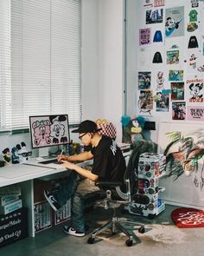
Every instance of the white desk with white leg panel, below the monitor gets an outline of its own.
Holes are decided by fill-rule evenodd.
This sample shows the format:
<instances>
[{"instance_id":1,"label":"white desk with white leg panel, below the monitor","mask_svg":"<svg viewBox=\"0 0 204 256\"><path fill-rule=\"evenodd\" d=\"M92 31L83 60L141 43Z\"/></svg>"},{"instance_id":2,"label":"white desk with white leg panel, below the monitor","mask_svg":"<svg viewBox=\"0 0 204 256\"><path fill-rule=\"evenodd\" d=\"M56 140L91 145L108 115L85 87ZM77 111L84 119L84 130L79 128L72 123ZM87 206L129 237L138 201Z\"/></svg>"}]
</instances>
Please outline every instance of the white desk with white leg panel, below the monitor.
<instances>
[{"instance_id":1,"label":"white desk with white leg panel, below the monitor","mask_svg":"<svg viewBox=\"0 0 204 256\"><path fill-rule=\"evenodd\" d=\"M80 167L92 164L92 161L79 163ZM0 168L0 187L19 184L22 188L22 204L28 208L29 236L35 236L34 216L34 180L48 175L67 171L66 167L57 164L40 164L35 159L28 164L15 164Z\"/></svg>"}]
</instances>

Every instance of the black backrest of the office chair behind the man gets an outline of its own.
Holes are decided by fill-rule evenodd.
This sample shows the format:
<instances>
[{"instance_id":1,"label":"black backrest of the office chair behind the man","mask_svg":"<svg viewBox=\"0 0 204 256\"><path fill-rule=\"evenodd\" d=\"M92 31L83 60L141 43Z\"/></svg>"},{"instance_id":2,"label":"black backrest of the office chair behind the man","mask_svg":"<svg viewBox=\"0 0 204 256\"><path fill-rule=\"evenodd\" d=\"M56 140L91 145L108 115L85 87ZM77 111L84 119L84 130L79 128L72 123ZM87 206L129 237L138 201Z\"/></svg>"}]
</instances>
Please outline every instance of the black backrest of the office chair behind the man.
<instances>
[{"instance_id":1,"label":"black backrest of the office chair behind the man","mask_svg":"<svg viewBox=\"0 0 204 256\"><path fill-rule=\"evenodd\" d=\"M139 140L133 148L131 157L128 161L126 171L124 173L124 181L130 180L131 199L137 194L138 189L138 163L139 156L145 152L156 153L156 144L152 141Z\"/></svg>"}]
</instances>

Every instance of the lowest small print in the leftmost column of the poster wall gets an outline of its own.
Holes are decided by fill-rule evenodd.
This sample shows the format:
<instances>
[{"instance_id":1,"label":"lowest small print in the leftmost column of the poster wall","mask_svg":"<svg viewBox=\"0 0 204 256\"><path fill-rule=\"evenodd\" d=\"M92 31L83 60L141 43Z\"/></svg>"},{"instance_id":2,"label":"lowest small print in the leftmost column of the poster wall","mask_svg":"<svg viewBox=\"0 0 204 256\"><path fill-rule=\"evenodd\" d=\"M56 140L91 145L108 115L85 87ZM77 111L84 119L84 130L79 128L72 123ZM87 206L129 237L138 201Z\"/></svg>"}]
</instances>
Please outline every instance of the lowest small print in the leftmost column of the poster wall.
<instances>
[{"instance_id":1,"label":"lowest small print in the leftmost column of the poster wall","mask_svg":"<svg viewBox=\"0 0 204 256\"><path fill-rule=\"evenodd\" d=\"M152 90L140 90L138 107L140 112L149 113L153 109L153 93Z\"/></svg>"}]
</instances>

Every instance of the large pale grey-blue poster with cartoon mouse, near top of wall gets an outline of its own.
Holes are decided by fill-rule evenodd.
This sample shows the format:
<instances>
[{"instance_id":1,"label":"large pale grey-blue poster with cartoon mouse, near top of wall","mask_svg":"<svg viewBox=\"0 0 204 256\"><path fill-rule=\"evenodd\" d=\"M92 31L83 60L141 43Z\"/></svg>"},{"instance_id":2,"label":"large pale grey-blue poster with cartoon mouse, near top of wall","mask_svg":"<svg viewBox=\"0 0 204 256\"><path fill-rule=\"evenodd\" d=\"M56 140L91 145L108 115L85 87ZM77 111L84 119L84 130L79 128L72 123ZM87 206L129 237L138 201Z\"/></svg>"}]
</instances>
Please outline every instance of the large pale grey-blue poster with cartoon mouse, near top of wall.
<instances>
[{"instance_id":1,"label":"large pale grey-blue poster with cartoon mouse, near top of wall","mask_svg":"<svg viewBox=\"0 0 204 256\"><path fill-rule=\"evenodd\" d=\"M184 36L184 6L165 10L166 37Z\"/></svg>"}]
</instances>

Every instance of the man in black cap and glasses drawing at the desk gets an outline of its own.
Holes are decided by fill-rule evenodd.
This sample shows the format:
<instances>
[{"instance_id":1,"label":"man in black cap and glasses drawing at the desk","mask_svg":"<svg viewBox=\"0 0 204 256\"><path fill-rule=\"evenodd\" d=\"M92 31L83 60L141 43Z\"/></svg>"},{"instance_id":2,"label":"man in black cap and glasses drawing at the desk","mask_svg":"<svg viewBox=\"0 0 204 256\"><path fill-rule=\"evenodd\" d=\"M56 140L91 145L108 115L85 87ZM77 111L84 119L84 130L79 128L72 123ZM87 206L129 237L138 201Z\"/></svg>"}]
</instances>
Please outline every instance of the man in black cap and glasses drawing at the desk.
<instances>
[{"instance_id":1,"label":"man in black cap and glasses drawing at the desk","mask_svg":"<svg viewBox=\"0 0 204 256\"><path fill-rule=\"evenodd\" d=\"M125 171L124 156L115 141L110 137L99 135L99 128L95 122L86 120L80 123L73 133L79 133L79 138L85 146L92 146L88 152L76 155L59 155L58 161L71 172L61 186L56 187L52 194L44 191L45 197L51 207L56 211L72 198L71 225L64 226L63 231L74 236L85 235L84 225L84 202L83 196L77 187L80 177L83 176L91 181L123 181ZM86 161L93 159L92 171L79 167L72 161Z\"/></svg>"}]
</instances>

